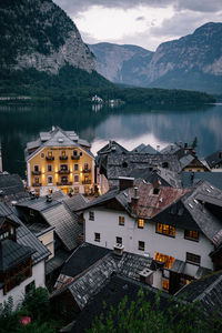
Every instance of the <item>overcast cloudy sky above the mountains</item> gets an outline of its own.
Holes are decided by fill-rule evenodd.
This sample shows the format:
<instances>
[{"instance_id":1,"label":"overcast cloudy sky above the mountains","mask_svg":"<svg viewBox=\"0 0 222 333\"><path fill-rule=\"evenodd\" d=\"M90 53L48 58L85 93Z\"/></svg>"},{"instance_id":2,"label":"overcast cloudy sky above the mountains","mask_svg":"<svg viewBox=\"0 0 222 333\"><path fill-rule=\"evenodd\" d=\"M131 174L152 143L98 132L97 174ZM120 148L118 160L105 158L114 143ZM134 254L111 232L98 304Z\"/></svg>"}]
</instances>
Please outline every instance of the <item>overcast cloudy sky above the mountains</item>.
<instances>
[{"instance_id":1,"label":"overcast cloudy sky above the mountains","mask_svg":"<svg viewBox=\"0 0 222 333\"><path fill-rule=\"evenodd\" d=\"M164 41L222 22L222 0L53 0L87 43L135 44L154 51Z\"/></svg>"}]
</instances>

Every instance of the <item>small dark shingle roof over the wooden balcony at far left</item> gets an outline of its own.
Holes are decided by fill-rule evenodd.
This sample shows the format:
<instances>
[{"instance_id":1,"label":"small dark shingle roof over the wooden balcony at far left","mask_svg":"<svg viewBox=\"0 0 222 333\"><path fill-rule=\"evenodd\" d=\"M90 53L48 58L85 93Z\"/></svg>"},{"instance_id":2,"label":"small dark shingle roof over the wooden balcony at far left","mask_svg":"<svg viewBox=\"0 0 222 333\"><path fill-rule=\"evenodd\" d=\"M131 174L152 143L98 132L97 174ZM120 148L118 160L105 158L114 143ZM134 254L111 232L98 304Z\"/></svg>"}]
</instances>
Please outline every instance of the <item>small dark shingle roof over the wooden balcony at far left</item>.
<instances>
[{"instance_id":1,"label":"small dark shingle roof over the wooden balcony at far left","mask_svg":"<svg viewBox=\"0 0 222 333\"><path fill-rule=\"evenodd\" d=\"M6 272L28 259L36 251L11 240L0 242L0 271Z\"/></svg>"}]
</instances>

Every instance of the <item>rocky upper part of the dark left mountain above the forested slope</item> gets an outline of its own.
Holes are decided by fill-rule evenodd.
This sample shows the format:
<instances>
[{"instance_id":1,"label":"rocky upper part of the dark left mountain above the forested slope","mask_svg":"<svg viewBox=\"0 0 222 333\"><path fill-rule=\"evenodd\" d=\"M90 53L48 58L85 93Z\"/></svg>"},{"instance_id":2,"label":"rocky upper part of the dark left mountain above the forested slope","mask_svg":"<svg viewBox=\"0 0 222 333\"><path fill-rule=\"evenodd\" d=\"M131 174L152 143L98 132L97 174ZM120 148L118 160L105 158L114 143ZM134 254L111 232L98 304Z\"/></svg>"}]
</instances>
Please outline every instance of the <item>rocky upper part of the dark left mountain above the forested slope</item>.
<instances>
[{"instance_id":1,"label":"rocky upper part of the dark left mountain above the forested slope","mask_svg":"<svg viewBox=\"0 0 222 333\"><path fill-rule=\"evenodd\" d=\"M89 50L65 12L51 0L0 2L1 69L57 74L65 65L92 72L97 68Z\"/></svg>"}]
</instances>

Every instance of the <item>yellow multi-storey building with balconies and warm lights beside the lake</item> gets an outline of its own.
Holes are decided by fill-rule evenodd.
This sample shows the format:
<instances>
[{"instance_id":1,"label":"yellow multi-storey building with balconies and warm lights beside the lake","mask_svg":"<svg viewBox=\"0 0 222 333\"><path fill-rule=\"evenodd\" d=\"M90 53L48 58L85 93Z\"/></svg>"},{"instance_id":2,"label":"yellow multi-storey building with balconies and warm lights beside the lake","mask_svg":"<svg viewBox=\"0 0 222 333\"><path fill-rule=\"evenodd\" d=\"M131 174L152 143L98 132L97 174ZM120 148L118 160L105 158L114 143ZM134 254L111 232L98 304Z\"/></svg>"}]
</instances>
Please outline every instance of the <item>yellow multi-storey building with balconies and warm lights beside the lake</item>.
<instances>
[{"instance_id":1,"label":"yellow multi-storey building with balconies and warm lights beside the lake","mask_svg":"<svg viewBox=\"0 0 222 333\"><path fill-rule=\"evenodd\" d=\"M26 149L28 186L40 195L61 189L90 193L94 185L94 157L90 143L74 131L52 128L40 132Z\"/></svg>"}]
</instances>

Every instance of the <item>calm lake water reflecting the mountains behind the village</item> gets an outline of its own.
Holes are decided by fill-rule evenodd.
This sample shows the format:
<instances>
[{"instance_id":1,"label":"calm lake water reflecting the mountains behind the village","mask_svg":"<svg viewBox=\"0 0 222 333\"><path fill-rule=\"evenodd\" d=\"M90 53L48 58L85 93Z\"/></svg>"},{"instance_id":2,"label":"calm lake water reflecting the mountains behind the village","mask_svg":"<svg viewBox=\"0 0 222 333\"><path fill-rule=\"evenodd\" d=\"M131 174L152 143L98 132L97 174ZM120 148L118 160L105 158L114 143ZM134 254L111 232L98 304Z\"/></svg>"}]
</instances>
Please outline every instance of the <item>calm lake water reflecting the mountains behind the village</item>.
<instances>
[{"instance_id":1,"label":"calm lake water reflecting the mountains behind the village","mask_svg":"<svg viewBox=\"0 0 222 333\"><path fill-rule=\"evenodd\" d=\"M92 144L95 153L108 140L131 150L140 143L164 148L171 142L198 138L198 155L222 149L222 104L196 108L150 109L123 105L93 111L91 108L0 105L0 141L3 170L24 178L23 150L40 131L52 125L74 130Z\"/></svg>"}]
</instances>

